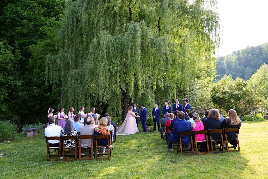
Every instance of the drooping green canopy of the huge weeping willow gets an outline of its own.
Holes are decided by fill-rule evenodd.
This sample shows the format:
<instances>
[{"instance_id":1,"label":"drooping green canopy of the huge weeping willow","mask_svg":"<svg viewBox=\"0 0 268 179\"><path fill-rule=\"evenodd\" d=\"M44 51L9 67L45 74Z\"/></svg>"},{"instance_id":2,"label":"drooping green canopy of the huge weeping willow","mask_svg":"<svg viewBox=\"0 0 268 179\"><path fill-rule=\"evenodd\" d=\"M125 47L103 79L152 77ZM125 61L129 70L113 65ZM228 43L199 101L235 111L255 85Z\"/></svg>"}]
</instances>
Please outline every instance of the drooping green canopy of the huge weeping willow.
<instances>
[{"instance_id":1,"label":"drooping green canopy of the huge weeping willow","mask_svg":"<svg viewBox=\"0 0 268 179\"><path fill-rule=\"evenodd\" d=\"M107 103L125 118L133 100L152 109L172 99L189 74L213 69L219 17L212 1L67 1L57 35L59 53L47 58L47 78L62 84L65 106Z\"/></svg>"}]
</instances>

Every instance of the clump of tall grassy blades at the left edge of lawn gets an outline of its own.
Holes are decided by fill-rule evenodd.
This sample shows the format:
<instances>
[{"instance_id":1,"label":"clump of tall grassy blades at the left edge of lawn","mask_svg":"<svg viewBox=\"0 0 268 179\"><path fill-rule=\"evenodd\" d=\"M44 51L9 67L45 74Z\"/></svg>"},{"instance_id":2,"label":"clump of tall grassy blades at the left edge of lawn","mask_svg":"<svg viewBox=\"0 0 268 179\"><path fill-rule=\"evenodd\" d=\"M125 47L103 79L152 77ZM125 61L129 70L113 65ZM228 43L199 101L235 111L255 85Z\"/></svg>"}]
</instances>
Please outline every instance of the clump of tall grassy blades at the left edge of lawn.
<instances>
[{"instance_id":1,"label":"clump of tall grassy blades at the left edge of lawn","mask_svg":"<svg viewBox=\"0 0 268 179\"><path fill-rule=\"evenodd\" d=\"M0 120L0 141L13 141L18 131L15 122Z\"/></svg>"}]
</instances>

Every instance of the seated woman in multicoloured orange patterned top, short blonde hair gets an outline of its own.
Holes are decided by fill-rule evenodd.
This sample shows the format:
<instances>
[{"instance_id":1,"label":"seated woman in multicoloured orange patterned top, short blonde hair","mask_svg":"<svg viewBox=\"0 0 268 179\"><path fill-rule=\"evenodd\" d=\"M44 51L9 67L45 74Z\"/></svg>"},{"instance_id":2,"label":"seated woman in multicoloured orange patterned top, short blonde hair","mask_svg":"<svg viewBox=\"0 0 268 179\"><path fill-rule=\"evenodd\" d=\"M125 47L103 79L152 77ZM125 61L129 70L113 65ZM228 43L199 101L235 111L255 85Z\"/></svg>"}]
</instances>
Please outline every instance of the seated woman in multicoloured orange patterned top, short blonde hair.
<instances>
[{"instance_id":1,"label":"seated woman in multicoloured orange patterned top, short blonde hair","mask_svg":"<svg viewBox=\"0 0 268 179\"><path fill-rule=\"evenodd\" d=\"M108 120L106 117L102 117L101 120L99 121L99 126L98 127L95 127L95 130L94 130L94 135L98 136L98 135L110 135L110 131L107 127L107 123L108 123ZM96 139L97 142L98 142L98 145L102 145L102 146L105 146L105 145L108 145L108 139ZM111 148L113 147L113 145L111 145ZM104 154L105 153L105 148L106 147L103 147L102 148L102 153Z\"/></svg>"}]
</instances>

